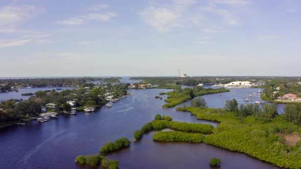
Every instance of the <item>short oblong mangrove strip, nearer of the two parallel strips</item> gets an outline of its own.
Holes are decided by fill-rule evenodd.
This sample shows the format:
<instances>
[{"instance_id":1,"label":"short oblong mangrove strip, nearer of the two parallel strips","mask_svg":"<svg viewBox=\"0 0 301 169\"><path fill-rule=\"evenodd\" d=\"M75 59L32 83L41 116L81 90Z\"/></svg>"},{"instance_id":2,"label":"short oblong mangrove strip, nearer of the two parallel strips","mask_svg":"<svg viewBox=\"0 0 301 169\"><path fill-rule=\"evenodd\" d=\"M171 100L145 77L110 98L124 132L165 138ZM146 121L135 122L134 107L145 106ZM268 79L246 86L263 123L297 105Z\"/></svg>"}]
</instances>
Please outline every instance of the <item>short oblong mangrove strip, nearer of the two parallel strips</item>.
<instances>
[{"instance_id":1,"label":"short oblong mangrove strip, nearer of the two parallel strips","mask_svg":"<svg viewBox=\"0 0 301 169\"><path fill-rule=\"evenodd\" d=\"M205 136L199 133L185 133L181 131L159 131L153 135L158 142L204 142Z\"/></svg>"}]
</instances>

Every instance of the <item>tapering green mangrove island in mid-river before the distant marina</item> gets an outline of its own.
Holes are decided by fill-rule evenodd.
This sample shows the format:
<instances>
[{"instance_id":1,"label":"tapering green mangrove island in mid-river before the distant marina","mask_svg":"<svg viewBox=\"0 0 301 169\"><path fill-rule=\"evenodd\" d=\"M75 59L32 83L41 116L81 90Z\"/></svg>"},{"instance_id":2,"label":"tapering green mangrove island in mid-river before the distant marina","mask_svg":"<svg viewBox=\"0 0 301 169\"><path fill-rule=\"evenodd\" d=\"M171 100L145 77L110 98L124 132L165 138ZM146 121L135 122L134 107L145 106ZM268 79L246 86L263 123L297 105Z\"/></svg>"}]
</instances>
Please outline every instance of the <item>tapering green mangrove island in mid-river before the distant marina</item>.
<instances>
[{"instance_id":1,"label":"tapering green mangrove island in mid-river before the distant marina","mask_svg":"<svg viewBox=\"0 0 301 169\"><path fill-rule=\"evenodd\" d=\"M203 88L203 87L193 87L193 88L185 88L180 90L174 90L172 92L167 92L167 95L170 95L165 100L167 103L163 105L164 108L167 107L174 107L180 103L184 103L194 97L203 96L208 94L214 93L222 93L222 92L229 92L229 89L219 88L219 89L212 89L212 88Z\"/></svg>"}]
</instances>

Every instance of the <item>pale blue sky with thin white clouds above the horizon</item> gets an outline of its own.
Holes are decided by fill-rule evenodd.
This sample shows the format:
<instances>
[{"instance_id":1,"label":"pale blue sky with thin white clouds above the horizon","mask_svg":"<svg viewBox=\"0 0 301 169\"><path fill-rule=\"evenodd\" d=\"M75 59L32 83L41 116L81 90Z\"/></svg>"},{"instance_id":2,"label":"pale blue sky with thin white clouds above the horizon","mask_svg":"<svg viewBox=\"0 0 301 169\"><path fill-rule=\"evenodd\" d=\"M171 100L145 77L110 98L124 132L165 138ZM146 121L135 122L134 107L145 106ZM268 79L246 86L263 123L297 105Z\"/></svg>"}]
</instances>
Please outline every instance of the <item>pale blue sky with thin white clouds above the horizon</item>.
<instances>
[{"instance_id":1,"label":"pale blue sky with thin white clouds above the horizon","mask_svg":"<svg viewBox=\"0 0 301 169\"><path fill-rule=\"evenodd\" d=\"M0 1L0 77L300 76L301 1Z\"/></svg>"}]
</instances>

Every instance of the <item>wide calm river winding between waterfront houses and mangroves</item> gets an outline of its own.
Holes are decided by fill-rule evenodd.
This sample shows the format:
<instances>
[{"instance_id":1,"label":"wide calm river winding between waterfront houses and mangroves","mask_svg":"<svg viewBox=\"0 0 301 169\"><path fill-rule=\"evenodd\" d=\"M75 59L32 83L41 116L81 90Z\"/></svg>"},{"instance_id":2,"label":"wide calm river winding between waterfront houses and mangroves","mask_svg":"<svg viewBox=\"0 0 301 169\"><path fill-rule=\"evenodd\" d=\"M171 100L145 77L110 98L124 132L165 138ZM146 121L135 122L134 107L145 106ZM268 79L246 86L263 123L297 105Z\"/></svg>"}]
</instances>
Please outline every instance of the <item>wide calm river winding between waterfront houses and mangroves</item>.
<instances>
[{"instance_id":1,"label":"wide calm river winding between waterfront houses and mangroves","mask_svg":"<svg viewBox=\"0 0 301 169\"><path fill-rule=\"evenodd\" d=\"M104 143L119 137L132 139L133 132L152 121L156 114L168 115L174 121L217 126L213 122L196 120L187 112L161 108L164 99L155 99L155 96L167 91L171 90L132 90L135 95L93 114L65 115L45 123L32 122L30 126L2 129L0 168L89 168L74 163L74 158L80 154L97 154ZM204 98L209 107L218 107L218 101L211 102L228 94ZM152 140L153 134L144 135L139 142L132 143L131 148L108 158L118 160L120 168L210 168L211 157L222 160L221 168L276 168L242 153L202 143L156 143Z\"/></svg>"}]
</instances>

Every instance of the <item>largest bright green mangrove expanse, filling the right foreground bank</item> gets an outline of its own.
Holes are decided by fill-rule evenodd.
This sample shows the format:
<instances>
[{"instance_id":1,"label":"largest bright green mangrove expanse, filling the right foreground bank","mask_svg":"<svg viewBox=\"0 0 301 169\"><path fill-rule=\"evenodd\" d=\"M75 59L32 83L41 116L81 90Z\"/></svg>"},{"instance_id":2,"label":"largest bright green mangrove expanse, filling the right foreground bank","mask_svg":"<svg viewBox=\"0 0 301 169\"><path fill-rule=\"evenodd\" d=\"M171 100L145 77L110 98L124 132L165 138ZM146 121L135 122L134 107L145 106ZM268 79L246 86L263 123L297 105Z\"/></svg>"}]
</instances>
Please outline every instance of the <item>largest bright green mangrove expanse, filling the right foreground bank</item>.
<instances>
[{"instance_id":1,"label":"largest bright green mangrove expanse, filling the right foreground bank","mask_svg":"<svg viewBox=\"0 0 301 169\"><path fill-rule=\"evenodd\" d=\"M214 128L213 134L205 138L205 144L243 152L260 160L271 162L274 165L287 168L301 167L301 127L285 120L285 115L278 115L274 105L258 107L245 106L236 109L193 108L181 107L177 110L190 111L197 119L220 122ZM240 106L241 107L241 106ZM276 109L277 111L277 109ZM289 146L290 137L297 137Z\"/></svg>"}]
</instances>

